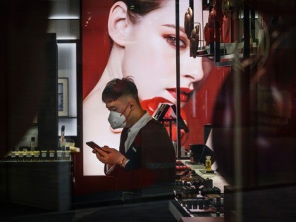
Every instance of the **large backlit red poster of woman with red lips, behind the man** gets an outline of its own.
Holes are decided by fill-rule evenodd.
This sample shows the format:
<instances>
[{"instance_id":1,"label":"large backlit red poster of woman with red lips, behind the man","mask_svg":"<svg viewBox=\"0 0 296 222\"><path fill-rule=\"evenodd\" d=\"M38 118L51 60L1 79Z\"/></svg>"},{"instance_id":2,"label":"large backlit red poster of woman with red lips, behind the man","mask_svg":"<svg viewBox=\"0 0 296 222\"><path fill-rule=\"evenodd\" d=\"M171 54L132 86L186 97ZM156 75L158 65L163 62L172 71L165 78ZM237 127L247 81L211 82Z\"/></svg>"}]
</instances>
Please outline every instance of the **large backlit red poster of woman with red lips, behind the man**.
<instances>
[{"instance_id":1,"label":"large backlit red poster of woman with red lips, behind the man","mask_svg":"<svg viewBox=\"0 0 296 222\"><path fill-rule=\"evenodd\" d=\"M144 109L152 115L159 103L176 104L175 1L82 1L83 80L83 175L104 175L85 142L118 149L121 130L108 122L109 110L101 99L106 83L131 76ZM137 2L137 1L133 1ZM190 57L185 34L185 12L189 1L180 0L180 107L188 133L182 132L182 146L203 143L204 124L211 122L211 110L226 70L215 68L211 57ZM194 21L201 27L209 11L195 0ZM205 45L200 29L200 45ZM173 128L172 140L176 130Z\"/></svg>"}]
</instances>

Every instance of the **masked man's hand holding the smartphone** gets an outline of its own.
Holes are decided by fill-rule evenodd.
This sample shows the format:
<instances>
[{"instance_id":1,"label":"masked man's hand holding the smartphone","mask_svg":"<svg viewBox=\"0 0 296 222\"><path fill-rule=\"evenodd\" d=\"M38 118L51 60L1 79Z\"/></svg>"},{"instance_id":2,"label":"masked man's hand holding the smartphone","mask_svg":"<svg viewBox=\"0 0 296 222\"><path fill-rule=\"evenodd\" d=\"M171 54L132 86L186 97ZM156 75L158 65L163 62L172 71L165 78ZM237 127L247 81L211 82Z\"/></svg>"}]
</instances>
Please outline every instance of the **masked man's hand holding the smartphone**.
<instances>
[{"instance_id":1,"label":"masked man's hand holding the smartphone","mask_svg":"<svg viewBox=\"0 0 296 222\"><path fill-rule=\"evenodd\" d=\"M125 156L116 149L109 148L108 146L101 147L101 149L96 147L92 152L96 154L97 159L103 164L121 164L121 161L125 158Z\"/></svg>"}]
</instances>

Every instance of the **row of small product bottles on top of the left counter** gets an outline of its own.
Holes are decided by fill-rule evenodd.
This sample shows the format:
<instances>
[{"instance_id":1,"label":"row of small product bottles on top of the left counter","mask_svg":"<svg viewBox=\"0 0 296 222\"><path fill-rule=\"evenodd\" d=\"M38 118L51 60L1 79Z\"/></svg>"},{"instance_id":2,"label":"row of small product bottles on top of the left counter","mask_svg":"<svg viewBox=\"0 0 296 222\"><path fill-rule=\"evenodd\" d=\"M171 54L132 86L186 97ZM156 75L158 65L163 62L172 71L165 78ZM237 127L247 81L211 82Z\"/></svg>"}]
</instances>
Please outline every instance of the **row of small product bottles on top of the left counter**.
<instances>
[{"instance_id":1,"label":"row of small product bottles on top of the left counter","mask_svg":"<svg viewBox=\"0 0 296 222\"><path fill-rule=\"evenodd\" d=\"M2 161L70 161L70 147L58 150L11 151Z\"/></svg>"}]
</instances>

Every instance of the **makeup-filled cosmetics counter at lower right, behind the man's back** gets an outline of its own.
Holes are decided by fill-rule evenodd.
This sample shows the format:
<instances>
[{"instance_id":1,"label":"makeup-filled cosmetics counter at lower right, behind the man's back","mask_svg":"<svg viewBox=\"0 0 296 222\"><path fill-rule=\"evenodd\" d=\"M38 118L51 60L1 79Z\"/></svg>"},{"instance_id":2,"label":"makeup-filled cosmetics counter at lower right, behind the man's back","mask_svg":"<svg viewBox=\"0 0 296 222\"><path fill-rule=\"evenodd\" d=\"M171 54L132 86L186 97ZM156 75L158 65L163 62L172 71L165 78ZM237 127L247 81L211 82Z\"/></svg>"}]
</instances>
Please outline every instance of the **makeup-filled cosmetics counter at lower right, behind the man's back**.
<instances>
[{"instance_id":1,"label":"makeup-filled cosmetics counter at lower right, behind the man's back","mask_svg":"<svg viewBox=\"0 0 296 222\"><path fill-rule=\"evenodd\" d=\"M205 165L176 162L175 199L169 209L178 221L224 221L224 186L228 184Z\"/></svg>"}]
</instances>

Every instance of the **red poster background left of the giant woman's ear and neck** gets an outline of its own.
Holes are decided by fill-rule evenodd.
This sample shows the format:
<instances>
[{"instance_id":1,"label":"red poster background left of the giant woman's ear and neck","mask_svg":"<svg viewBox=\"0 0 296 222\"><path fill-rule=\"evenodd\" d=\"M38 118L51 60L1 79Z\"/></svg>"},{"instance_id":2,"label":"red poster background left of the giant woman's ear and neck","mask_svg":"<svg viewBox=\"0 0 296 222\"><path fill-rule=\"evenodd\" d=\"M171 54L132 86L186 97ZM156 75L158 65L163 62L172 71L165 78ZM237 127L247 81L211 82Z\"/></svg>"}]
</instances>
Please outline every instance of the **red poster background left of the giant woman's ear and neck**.
<instances>
[{"instance_id":1,"label":"red poster background left of the giant woman's ear and neck","mask_svg":"<svg viewBox=\"0 0 296 222\"><path fill-rule=\"evenodd\" d=\"M113 0L82 1L82 80L85 99L97 84L109 58L108 17Z\"/></svg>"}]
</instances>

